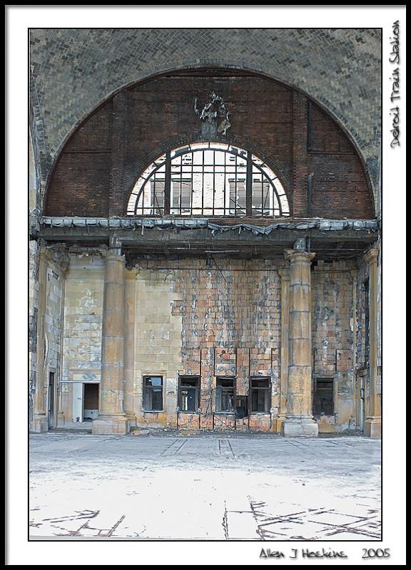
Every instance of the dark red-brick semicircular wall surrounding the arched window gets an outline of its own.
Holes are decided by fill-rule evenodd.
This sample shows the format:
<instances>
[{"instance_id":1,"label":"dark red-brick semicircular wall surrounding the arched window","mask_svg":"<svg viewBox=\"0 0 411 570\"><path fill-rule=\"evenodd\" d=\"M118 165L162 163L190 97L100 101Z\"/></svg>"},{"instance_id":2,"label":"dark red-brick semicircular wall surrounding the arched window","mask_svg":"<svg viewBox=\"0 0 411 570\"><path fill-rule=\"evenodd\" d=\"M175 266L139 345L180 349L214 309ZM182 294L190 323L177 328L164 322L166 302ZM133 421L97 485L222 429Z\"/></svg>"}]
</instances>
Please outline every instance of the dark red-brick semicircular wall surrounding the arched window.
<instances>
[{"instance_id":1,"label":"dark red-brick semicircular wall surrounding the arched window","mask_svg":"<svg viewBox=\"0 0 411 570\"><path fill-rule=\"evenodd\" d=\"M222 140L267 160L295 217L373 217L367 171L335 120L300 91L232 68L173 71L108 98L64 145L49 178L45 213L124 215L144 168L166 150L198 140L201 121L193 102L206 103L213 90L230 110L232 126Z\"/></svg>"}]
</instances>

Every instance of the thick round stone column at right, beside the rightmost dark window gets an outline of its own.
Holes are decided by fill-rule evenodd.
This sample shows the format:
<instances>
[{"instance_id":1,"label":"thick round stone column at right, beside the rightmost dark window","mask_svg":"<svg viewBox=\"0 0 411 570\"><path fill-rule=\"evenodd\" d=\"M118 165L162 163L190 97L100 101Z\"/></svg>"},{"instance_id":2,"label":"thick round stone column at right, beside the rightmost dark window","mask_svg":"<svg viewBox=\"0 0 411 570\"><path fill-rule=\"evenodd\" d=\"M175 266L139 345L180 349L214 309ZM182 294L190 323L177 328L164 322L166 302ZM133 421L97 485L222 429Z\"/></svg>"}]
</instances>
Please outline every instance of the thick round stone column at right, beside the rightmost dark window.
<instances>
[{"instance_id":1,"label":"thick round stone column at right, beside the rightmost dark window","mask_svg":"<svg viewBox=\"0 0 411 570\"><path fill-rule=\"evenodd\" d=\"M288 410L282 432L286 436L317 436L313 420L311 356L311 274L315 254L305 252L305 244L285 252L290 260L290 324L288 365Z\"/></svg>"}]
</instances>

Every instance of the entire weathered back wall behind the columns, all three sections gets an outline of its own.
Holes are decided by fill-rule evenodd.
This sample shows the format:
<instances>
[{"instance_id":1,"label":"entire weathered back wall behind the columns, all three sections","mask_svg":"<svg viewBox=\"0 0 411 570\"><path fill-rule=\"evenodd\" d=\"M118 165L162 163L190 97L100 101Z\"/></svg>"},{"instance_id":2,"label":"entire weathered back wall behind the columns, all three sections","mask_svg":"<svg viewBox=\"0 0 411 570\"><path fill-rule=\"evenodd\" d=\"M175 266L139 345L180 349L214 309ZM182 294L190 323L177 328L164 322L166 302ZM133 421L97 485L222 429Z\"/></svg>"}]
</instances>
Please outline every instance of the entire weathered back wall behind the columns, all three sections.
<instances>
[{"instance_id":1,"label":"entire weathered back wall behind the columns, all three sections","mask_svg":"<svg viewBox=\"0 0 411 570\"><path fill-rule=\"evenodd\" d=\"M104 266L71 256L66 277L62 408L72 420L73 381L100 380ZM270 413L250 413L238 429L275 430L280 406L280 277L283 260L141 259L126 271L126 408L138 426L233 429L214 414L215 378L270 378ZM320 430L355 427L353 287L355 262L312 271L313 371L335 379L335 417ZM163 412L143 411L143 376L163 376ZM201 413L176 414L179 375L201 376ZM129 390L129 393L127 392Z\"/></svg>"}]
</instances>

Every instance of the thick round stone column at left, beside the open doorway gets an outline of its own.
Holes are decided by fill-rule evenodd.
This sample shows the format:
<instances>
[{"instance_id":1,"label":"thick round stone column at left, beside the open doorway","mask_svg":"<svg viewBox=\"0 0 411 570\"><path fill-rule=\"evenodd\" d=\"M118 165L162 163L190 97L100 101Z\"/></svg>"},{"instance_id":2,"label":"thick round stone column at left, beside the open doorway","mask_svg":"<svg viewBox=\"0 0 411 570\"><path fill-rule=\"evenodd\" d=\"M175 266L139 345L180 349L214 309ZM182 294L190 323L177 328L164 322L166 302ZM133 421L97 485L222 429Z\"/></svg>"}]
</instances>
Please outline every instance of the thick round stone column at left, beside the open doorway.
<instances>
[{"instance_id":1,"label":"thick round stone column at left, beside the open doorway","mask_svg":"<svg viewBox=\"0 0 411 570\"><path fill-rule=\"evenodd\" d=\"M101 407L93 421L95 434L126 434L124 413L124 305L125 259L121 248L106 256L101 339Z\"/></svg>"}]
</instances>

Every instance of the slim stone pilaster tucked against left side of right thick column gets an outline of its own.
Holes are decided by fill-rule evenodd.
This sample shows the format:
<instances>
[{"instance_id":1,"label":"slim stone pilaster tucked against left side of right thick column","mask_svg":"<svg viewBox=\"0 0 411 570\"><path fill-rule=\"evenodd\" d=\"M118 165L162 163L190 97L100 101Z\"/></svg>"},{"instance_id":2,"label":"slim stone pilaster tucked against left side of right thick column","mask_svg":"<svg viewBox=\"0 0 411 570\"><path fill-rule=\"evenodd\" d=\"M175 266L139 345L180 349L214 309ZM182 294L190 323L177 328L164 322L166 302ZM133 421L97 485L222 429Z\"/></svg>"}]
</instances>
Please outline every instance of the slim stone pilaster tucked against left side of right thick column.
<instances>
[{"instance_id":1,"label":"slim stone pilaster tucked against left side of right thick column","mask_svg":"<svg viewBox=\"0 0 411 570\"><path fill-rule=\"evenodd\" d=\"M280 370L280 410L278 412L277 431L282 431L287 413L288 398L288 328L290 324L290 269L278 270L281 279L281 370Z\"/></svg>"}]
</instances>

